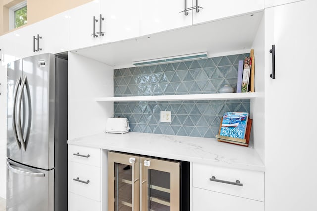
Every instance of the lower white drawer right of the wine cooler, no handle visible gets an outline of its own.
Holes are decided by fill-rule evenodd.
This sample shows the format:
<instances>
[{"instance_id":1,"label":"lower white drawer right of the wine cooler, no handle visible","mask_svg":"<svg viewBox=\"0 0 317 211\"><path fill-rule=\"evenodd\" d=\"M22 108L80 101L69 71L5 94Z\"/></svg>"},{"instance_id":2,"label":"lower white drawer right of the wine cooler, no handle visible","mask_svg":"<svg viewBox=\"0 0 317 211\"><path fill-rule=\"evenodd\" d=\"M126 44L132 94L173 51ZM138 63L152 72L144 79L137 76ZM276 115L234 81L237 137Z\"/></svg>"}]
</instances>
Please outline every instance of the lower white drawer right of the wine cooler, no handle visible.
<instances>
[{"instance_id":1,"label":"lower white drawer right of the wine cooler, no handle visible","mask_svg":"<svg viewBox=\"0 0 317 211\"><path fill-rule=\"evenodd\" d=\"M264 202L193 188L193 211L264 211Z\"/></svg>"}]
</instances>

